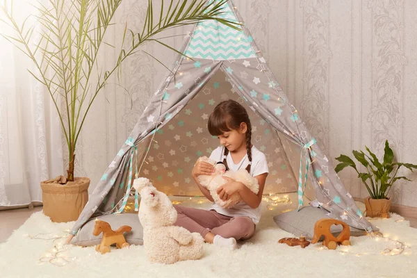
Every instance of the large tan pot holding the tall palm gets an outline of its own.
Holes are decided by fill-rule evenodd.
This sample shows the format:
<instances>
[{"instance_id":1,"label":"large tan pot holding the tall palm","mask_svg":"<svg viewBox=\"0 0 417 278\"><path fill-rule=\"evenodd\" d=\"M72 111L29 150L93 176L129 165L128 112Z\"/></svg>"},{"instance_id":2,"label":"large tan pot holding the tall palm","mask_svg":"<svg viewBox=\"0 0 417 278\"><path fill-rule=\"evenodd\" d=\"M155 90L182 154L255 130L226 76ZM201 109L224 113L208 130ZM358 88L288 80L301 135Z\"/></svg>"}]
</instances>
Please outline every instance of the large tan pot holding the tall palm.
<instances>
[{"instance_id":1,"label":"large tan pot holding the tall palm","mask_svg":"<svg viewBox=\"0 0 417 278\"><path fill-rule=\"evenodd\" d=\"M88 202L88 186L90 179L86 177L76 177L66 184L42 181L40 187L44 215L49 216L52 222L77 220Z\"/></svg>"}]
</instances>

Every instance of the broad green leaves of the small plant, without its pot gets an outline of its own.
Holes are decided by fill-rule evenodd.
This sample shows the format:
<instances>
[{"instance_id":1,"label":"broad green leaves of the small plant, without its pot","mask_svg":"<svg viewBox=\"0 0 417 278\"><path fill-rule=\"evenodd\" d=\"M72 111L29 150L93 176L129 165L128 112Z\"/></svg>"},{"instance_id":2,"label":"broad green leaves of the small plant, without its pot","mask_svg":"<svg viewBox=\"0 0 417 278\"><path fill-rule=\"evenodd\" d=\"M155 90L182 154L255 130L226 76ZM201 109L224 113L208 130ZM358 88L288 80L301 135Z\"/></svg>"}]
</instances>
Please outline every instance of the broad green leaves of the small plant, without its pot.
<instances>
[{"instance_id":1,"label":"broad green leaves of the small plant, without its pot","mask_svg":"<svg viewBox=\"0 0 417 278\"><path fill-rule=\"evenodd\" d=\"M411 181L410 179L407 179L407 177L396 177L398 169L404 166L413 172L413 169L417 169L417 165L393 162L394 153L393 150L389 147L388 140L385 141L384 161L379 162L377 156L375 156L373 152L370 152L368 147L366 147L366 151L369 155L362 151L352 152L357 161L359 161L359 163L361 163L366 168L366 172L359 172L354 161L352 161L349 156L345 156L344 154L341 154L341 156L336 158L338 161L340 161L340 163L336 165L336 172L338 173L348 166L353 167L354 170L358 173L358 177L366 186L366 189L368 190L368 193L372 199L386 199L388 197L389 190L393 186L393 183L399 179Z\"/></svg>"}]
</instances>

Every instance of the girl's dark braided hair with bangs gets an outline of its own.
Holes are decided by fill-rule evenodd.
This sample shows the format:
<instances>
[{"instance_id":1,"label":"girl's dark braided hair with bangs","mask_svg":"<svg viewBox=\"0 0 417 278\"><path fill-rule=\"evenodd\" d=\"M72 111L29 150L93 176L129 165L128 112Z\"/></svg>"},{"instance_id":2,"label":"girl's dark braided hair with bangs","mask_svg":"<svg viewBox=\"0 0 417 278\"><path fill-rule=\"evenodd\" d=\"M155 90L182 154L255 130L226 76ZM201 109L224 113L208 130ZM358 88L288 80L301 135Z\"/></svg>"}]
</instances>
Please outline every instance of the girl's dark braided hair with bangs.
<instances>
[{"instance_id":1,"label":"girl's dark braided hair with bangs","mask_svg":"<svg viewBox=\"0 0 417 278\"><path fill-rule=\"evenodd\" d=\"M226 131L239 129L242 122L247 125L247 158L252 162L252 124L250 124L249 115L247 115L245 107L241 106L238 101L229 99L222 101L215 106L214 111L211 113L210 117L208 117L208 132L210 132L212 136L220 136ZM224 155L227 156L228 153L229 150L225 147Z\"/></svg>"}]
</instances>

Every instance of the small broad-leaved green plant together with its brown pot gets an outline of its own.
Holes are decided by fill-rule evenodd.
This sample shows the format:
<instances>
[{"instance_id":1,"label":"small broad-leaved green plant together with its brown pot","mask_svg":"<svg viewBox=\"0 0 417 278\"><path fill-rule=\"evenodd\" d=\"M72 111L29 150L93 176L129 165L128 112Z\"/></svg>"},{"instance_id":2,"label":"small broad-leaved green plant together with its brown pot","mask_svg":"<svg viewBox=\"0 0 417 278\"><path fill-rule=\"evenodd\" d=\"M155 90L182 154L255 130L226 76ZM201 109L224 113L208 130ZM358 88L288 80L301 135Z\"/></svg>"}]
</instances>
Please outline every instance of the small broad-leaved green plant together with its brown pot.
<instances>
[{"instance_id":1,"label":"small broad-leaved green plant together with its brown pot","mask_svg":"<svg viewBox=\"0 0 417 278\"><path fill-rule=\"evenodd\" d=\"M391 190L393 183L399 179L407 179L407 177L397 177L398 169L404 166L413 171L417 165L410 163L400 163L394 161L393 150L389 147L388 140L385 141L384 161L379 162L377 156L370 152L366 147L368 154L362 151L353 151L354 157L366 168L366 172L359 172L357 165L349 156L341 154L337 157L340 163L336 165L336 172L340 172L345 167L353 167L358 173L358 177L368 190L369 196L365 199L366 215L369 217L389 218L389 209L391 208L391 198L389 190Z\"/></svg>"}]
</instances>

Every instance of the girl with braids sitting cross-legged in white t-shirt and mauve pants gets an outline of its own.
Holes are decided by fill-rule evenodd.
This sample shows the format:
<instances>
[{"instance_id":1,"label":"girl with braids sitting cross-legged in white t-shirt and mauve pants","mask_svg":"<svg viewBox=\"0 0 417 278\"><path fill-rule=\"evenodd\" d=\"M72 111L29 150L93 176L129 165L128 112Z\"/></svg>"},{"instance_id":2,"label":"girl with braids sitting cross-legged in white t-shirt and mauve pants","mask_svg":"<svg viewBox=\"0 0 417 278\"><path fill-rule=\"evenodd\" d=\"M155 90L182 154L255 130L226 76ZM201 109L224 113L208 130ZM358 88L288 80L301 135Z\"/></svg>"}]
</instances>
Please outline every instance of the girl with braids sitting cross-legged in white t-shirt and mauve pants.
<instances>
[{"instance_id":1,"label":"girl with braids sitting cross-legged in white t-shirt and mauve pants","mask_svg":"<svg viewBox=\"0 0 417 278\"><path fill-rule=\"evenodd\" d=\"M245 240L253 236L255 225L261 219L261 200L265 179L268 176L268 163L265 154L251 144L252 125L243 106L234 100L222 101L215 107L208 118L208 131L218 136L220 147L216 148L210 158L222 162L227 170L246 169L259 181L259 193L252 193L243 183L227 179L227 183L218 188L220 199L238 193L243 202L233 208L221 208L213 204L208 211L186 206L175 206L178 218L175 225L202 235L207 243L236 248L236 240ZM193 179L199 190L211 202L209 191L199 184L200 174L212 174L214 168L209 163L199 162L193 167Z\"/></svg>"}]
</instances>

